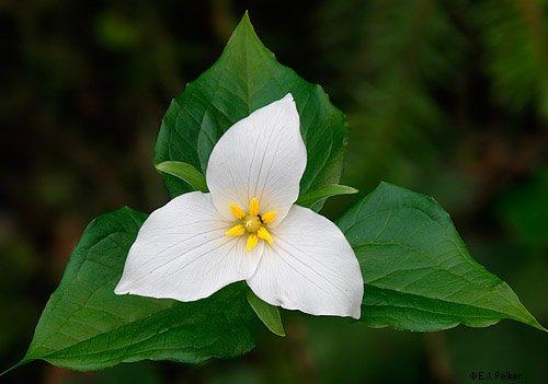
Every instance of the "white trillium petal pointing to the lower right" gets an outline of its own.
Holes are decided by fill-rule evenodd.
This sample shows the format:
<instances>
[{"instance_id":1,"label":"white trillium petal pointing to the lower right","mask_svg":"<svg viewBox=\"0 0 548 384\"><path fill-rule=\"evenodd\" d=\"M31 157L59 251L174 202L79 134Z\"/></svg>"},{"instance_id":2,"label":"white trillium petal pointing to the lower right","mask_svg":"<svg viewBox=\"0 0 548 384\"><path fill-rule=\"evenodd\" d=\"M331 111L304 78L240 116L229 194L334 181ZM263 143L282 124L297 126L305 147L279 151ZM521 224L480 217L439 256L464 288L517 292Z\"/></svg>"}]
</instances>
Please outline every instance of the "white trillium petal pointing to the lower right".
<instances>
[{"instance_id":1,"label":"white trillium petal pointing to the lower right","mask_svg":"<svg viewBox=\"0 0 548 384\"><path fill-rule=\"evenodd\" d=\"M253 292L270 304L312 315L359 318L364 281L349 242L331 221L293 206L272 231L255 274Z\"/></svg>"}]
</instances>

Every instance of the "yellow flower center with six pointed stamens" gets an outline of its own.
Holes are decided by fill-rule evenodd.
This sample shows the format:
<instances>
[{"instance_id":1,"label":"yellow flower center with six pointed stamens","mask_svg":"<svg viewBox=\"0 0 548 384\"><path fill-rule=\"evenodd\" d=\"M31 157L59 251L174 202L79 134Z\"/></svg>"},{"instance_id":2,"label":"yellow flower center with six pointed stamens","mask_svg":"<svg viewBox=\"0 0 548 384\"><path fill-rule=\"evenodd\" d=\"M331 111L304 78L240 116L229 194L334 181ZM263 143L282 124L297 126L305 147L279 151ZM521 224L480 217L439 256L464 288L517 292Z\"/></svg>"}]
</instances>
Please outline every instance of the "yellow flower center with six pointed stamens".
<instances>
[{"instance_id":1,"label":"yellow flower center with six pointed stamens","mask_svg":"<svg viewBox=\"0 0 548 384\"><path fill-rule=\"evenodd\" d=\"M272 223L277 216L277 211L260 212L259 199L253 197L249 201L249 210L246 212L236 203L230 205L230 212L237 219L233 225L225 232L226 236L242 236L248 234L246 251L251 252L259 240L264 240L270 245L274 244L274 238L267 230L267 224Z\"/></svg>"}]
</instances>

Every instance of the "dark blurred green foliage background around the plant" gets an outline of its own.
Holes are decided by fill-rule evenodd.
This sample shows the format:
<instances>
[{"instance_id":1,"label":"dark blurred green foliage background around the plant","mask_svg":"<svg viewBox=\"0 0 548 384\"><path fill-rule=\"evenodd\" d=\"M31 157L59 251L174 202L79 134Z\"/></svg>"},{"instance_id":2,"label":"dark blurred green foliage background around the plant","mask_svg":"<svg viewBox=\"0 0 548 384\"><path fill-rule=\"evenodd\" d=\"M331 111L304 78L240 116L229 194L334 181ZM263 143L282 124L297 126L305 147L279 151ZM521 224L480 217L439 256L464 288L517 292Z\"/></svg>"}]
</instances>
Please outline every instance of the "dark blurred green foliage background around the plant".
<instances>
[{"instance_id":1,"label":"dark blurred green foliage background around the plant","mask_svg":"<svg viewBox=\"0 0 548 384\"><path fill-rule=\"evenodd\" d=\"M548 325L548 1L0 1L0 371L18 361L95 216L167 201L163 112L243 11L278 60L350 121L342 182L435 196L475 257ZM332 199L336 218L358 197ZM548 377L548 336L514 322L414 334L284 312L244 358L2 383L466 383Z\"/></svg>"}]
</instances>

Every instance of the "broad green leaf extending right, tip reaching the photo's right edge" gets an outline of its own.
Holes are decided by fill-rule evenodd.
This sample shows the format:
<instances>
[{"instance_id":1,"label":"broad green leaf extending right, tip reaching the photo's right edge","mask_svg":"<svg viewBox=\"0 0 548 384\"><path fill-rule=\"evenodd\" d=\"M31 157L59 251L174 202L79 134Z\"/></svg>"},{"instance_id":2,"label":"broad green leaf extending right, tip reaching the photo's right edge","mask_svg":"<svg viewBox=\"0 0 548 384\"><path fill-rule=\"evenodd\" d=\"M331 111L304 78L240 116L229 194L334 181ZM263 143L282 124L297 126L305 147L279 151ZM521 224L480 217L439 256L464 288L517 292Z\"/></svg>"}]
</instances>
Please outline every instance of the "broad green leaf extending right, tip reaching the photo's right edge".
<instances>
[{"instance_id":1,"label":"broad green leaf extending right, tip reaching the photo's right edge","mask_svg":"<svg viewBox=\"0 0 548 384\"><path fill-rule=\"evenodd\" d=\"M362 267L367 325L430 331L511 318L546 330L509 284L473 260L433 198L381 183L339 226Z\"/></svg>"}]
</instances>

